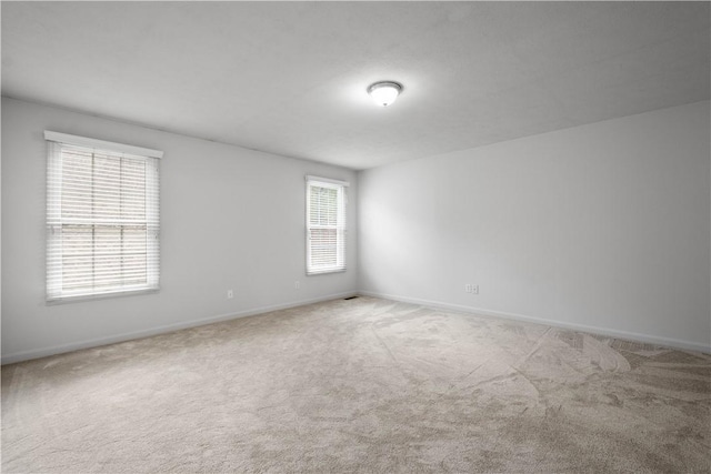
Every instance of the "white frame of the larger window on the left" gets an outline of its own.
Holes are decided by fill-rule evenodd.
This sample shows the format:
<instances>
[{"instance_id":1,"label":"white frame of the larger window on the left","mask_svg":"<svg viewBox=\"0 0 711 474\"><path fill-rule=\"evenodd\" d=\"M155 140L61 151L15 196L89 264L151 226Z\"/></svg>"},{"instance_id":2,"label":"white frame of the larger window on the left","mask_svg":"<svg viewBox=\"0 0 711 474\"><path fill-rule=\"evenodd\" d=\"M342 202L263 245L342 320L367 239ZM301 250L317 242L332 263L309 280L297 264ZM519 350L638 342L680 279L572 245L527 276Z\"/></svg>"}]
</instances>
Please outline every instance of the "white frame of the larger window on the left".
<instances>
[{"instance_id":1,"label":"white frame of the larger window on the left","mask_svg":"<svg viewBox=\"0 0 711 474\"><path fill-rule=\"evenodd\" d=\"M163 152L141 147L133 147L123 143L96 140L86 137L71 135L52 131L44 131L44 140L47 141L47 261L46 261L46 302L47 304L76 302L93 299L128 296L142 293L154 293L160 290L160 159ZM62 239L62 226L74 225L78 218L66 218L62 215L62 185L63 183L63 161L62 150L79 150L81 152L93 154L102 154L109 159L129 159L134 162L144 160L144 211L141 220L129 223L124 216L116 219L100 218L93 210L87 215L82 215L79 220L81 225L91 226L92 234L97 229L121 229L123 235L124 229L129 226L144 228L146 233L146 263L141 268L146 272L146 282L137 284L127 284L121 281L116 285L93 286L87 285L74 290L68 290L64 286L64 244ZM93 164L91 165L93 169ZM92 189L94 183L92 182ZM119 181L119 190L124 185ZM119 195L121 191L119 191ZM129 214L130 215L130 214ZM133 215L131 215L133 216ZM86 218L86 221L83 221ZM93 239L93 238L92 238ZM121 238L123 242L123 238ZM93 241L92 241L93 242ZM92 243L91 245L94 245ZM123 244L122 244L123 245ZM126 255L124 249L121 249L120 255ZM124 256L122 256L123 259ZM91 256L92 265L96 263L96 256ZM123 264L121 264L123 265ZM91 271L93 272L93 270ZM92 273L93 274L93 273Z\"/></svg>"}]
</instances>

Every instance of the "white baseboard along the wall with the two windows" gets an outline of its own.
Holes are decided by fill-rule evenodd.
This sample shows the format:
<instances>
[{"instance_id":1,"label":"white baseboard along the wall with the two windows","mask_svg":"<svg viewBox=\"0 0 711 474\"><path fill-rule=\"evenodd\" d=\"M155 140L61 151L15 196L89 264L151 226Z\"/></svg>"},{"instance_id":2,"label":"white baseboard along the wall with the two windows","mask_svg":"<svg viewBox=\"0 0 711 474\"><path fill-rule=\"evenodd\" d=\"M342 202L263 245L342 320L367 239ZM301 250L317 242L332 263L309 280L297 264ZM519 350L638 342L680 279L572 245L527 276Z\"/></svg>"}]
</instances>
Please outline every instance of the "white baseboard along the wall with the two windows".
<instances>
[{"instance_id":1,"label":"white baseboard along the wall with the two windows","mask_svg":"<svg viewBox=\"0 0 711 474\"><path fill-rule=\"evenodd\" d=\"M126 342L126 341L131 341L131 340L136 340L136 339L149 337L149 336L152 336L152 335L164 334L164 333L169 333L169 332L173 332L173 331L184 330L184 329L189 329L189 327L197 327L197 326L202 326L202 325L206 325L206 324L218 323L218 322L229 321L229 320L236 320L238 317L253 316L256 314L269 313L269 312L278 311L278 310L287 310L289 307L296 307L296 306L303 306L304 304L319 303L321 301L338 300L338 299L341 299L341 297L353 296L356 294L358 294L358 293L357 292L352 292L352 291L351 292L346 292L346 293L329 294L329 295L326 295L326 296L319 296L319 297L311 299L311 300L299 300L299 301L292 301L290 303L274 304L274 305L270 305L270 306L253 307L253 309L249 309L249 310L239 311L237 313L219 314L217 316L204 317L204 319L200 319L200 320L183 321L183 322L176 323L176 324L168 324L168 325L163 325L163 326L151 327L149 330L128 332L128 333L117 334L117 335L112 335L112 336L108 336L108 337L98 337L98 339L92 339L92 340L72 342L72 343L69 343L69 344L54 345L54 346L51 346L51 347L37 349L37 350L32 350L32 351L16 352L14 354L3 355L1 363L2 363L2 365L4 365L4 364L13 364L16 362L22 362L22 361L29 361L29 360L32 360L32 359L46 357L48 355L57 355L57 354L63 354L63 353L67 353L67 352L79 351L81 349L98 347L98 346L101 346L101 345L114 344L117 342Z\"/></svg>"}]
</instances>

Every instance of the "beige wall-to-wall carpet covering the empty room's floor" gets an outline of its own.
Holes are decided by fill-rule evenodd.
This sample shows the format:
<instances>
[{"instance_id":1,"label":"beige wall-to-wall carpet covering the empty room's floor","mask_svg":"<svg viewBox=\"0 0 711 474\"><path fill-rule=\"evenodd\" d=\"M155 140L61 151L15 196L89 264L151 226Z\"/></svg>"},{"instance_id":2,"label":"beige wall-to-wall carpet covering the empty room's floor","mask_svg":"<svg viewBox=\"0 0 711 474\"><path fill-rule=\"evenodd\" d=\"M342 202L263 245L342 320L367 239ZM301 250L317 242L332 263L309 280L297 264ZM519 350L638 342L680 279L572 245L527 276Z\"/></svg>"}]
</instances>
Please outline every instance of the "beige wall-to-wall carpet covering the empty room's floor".
<instances>
[{"instance_id":1,"label":"beige wall-to-wall carpet covering the empty room's floor","mask_svg":"<svg viewBox=\"0 0 711 474\"><path fill-rule=\"evenodd\" d=\"M2 367L2 470L708 473L711 355L338 300Z\"/></svg>"}]
</instances>

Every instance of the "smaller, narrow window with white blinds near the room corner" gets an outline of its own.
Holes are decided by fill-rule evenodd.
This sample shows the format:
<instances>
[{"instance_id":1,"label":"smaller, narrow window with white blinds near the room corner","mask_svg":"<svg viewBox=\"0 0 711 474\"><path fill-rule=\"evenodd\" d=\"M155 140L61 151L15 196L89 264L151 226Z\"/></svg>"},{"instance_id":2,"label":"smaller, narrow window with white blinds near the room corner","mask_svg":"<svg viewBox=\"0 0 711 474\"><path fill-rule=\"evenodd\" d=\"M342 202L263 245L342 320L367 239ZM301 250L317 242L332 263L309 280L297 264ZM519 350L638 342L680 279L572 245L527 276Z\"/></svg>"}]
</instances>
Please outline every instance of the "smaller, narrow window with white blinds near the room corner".
<instances>
[{"instance_id":1,"label":"smaller, narrow window with white blinds near the room corner","mask_svg":"<svg viewBox=\"0 0 711 474\"><path fill-rule=\"evenodd\" d=\"M307 177L307 274L346 270L347 182Z\"/></svg>"}]
</instances>

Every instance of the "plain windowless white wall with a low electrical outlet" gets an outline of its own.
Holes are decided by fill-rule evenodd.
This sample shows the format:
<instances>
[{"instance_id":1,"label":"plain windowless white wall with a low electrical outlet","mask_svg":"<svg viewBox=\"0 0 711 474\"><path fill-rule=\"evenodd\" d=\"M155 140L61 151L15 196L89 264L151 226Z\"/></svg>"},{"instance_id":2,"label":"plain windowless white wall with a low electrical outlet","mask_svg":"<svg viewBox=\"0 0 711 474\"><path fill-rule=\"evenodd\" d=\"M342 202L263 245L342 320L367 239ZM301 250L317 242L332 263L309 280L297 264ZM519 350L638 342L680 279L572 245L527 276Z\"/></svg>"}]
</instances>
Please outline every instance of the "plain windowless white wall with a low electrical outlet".
<instances>
[{"instance_id":1,"label":"plain windowless white wall with a low electrical outlet","mask_svg":"<svg viewBox=\"0 0 711 474\"><path fill-rule=\"evenodd\" d=\"M705 101L361 172L360 290L709 351L710 127Z\"/></svg>"}]
</instances>

